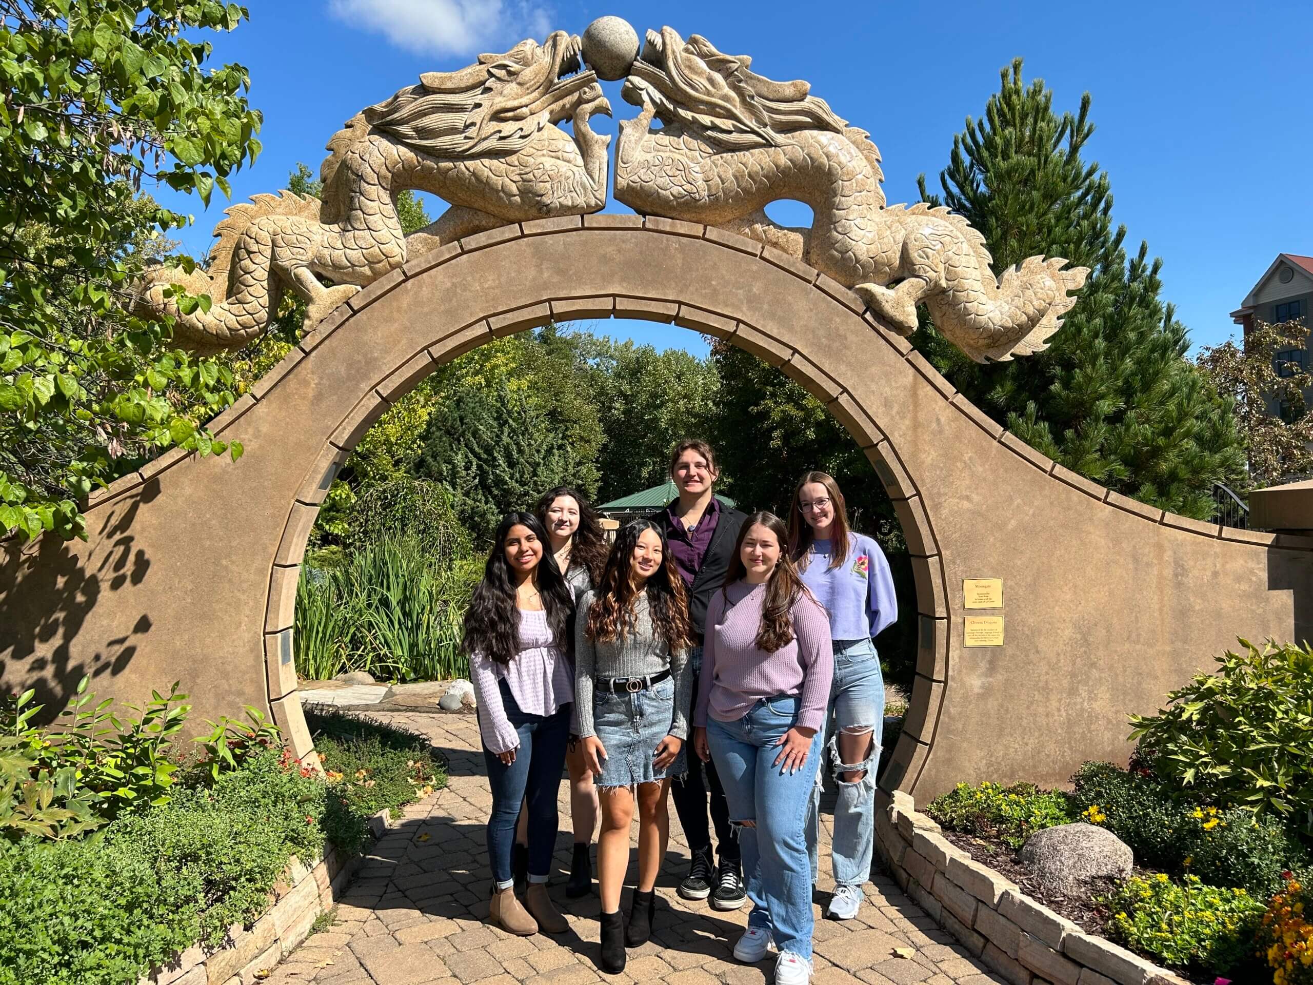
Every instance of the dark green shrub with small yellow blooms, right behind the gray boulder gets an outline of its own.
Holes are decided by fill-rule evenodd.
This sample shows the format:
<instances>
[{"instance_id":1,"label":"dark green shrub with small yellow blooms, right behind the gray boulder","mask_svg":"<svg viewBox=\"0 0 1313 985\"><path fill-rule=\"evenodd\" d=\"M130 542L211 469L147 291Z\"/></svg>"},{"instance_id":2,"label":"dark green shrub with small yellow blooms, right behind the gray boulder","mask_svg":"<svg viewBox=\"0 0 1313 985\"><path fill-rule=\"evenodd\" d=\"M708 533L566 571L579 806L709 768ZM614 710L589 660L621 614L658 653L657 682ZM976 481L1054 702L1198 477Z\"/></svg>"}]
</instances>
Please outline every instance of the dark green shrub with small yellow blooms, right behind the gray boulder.
<instances>
[{"instance_id":1,"label":"dark green shrub with small yellow blooms, right behind the gray boulder","mask_svg":"<svg viewBox=\"0 0 1313 985\"><path fill-rule=\"evenodd\" d=\"M1171 783L1148 770L1085 763L1071 783L1086 820L1117 835L1148 868L1188 871L1213 885L1266 894L1280 885L1283 869L1308 858L1278 818L1178 802Z\"/></svg>"}]
</instances>

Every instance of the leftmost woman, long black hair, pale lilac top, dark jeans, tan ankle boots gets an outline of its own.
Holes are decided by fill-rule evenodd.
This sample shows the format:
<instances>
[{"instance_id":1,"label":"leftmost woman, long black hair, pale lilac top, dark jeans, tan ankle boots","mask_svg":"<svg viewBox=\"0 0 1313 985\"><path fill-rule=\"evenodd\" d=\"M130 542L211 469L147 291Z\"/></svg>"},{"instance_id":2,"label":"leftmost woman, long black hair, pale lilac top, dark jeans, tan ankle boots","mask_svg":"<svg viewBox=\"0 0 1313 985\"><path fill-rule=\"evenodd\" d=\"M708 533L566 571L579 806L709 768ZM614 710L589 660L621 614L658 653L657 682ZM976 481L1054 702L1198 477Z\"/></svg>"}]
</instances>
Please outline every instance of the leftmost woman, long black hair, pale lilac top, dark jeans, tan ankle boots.
<instances>
[{"instance_id":1,"label":"leftmost woman, long black hair, pale lilac top, dark jeans, tan ankle boots","mask_svg":"<svg viewBox=\"0 0 1313 985\"><path fill-rule=\"evenodd\" d=\"M483 580L465 613L463 651L478 696L483 760L492 788L487 823L495 881L488 918L511 934L570 929L548 897L557 839L557 789L570 738L574 594L533 514L507 514ZM515 896L511 846L520 805L529 816L529 886Z\"/></svg>"}]
</instances>

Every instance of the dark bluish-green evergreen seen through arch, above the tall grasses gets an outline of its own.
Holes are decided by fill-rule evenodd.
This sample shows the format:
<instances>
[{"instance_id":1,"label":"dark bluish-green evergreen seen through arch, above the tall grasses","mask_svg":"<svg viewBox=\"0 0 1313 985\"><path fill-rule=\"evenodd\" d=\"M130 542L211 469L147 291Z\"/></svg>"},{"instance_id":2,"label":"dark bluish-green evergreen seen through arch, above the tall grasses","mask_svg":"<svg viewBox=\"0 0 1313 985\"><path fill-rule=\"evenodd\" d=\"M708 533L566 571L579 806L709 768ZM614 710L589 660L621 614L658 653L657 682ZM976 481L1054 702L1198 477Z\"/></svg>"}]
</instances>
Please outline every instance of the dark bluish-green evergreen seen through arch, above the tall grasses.
<instances>
[{"instance_id":1,"label":"dark bluish-green evergreen seen through arch, above the tall grasses","mask_svg":"<svg viewBox=\"0 0 1313 985\"><path fill-rule=\"evenodd\" d=\"M509 510L532 510L551 486L575 481L579 461L524 389L504 380L460 387L424 431L416 471L452 491L456 514L478 541Z\"/></svg>"}]
</instances>

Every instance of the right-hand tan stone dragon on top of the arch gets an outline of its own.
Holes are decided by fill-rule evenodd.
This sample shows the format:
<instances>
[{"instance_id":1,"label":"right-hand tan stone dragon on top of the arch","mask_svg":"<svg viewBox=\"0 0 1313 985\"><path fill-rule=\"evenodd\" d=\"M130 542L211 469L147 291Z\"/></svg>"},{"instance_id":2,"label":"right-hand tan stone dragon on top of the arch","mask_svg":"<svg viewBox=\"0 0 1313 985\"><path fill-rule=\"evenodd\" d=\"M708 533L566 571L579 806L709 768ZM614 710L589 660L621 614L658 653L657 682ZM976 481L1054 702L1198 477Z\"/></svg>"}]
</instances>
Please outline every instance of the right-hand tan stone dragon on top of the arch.
<instances>
[{"instance_id":1,"label":"right-hand tan stone dragon on top of the arch","mask_svg":"<svg viewBox=\"0 0 1313 985\"><path fill-rule=\"evenodd\" d=\"M587 54L587 53L586 53ZM747 56L695 34L649 32L621 96L642 112L621 121L616 197L638 213L734 230L789 252L852 288L890 327L936 327L972 359L1046 348L1087 268L1032 256L995 278L985 240L965 219L919 204L885 206L880 152L805 81L773 81ZM650 129L653 118L660 129ZM773 223L768 202L811 206L809 230Z\"/></svg>"}]
</instances>

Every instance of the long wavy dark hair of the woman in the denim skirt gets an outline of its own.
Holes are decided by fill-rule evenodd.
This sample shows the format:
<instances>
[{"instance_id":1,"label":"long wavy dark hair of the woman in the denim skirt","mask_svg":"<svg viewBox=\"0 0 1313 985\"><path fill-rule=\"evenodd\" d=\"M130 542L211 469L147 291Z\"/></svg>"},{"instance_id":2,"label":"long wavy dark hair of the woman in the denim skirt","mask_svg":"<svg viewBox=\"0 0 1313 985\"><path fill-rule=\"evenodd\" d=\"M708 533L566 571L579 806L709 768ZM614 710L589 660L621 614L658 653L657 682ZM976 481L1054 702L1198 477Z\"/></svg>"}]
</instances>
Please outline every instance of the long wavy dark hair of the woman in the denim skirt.
<instances>
[{"instance_id":1,"label":"long wavy dark hair of the woman in the denim skirt","mask_svg":"<svg viewBox=\"0 0 1313 985\"><path fill-rule=\"evenodd\" d=\"M676 653L687 649L693 638L688 623L688 592L675 567L675 556L670 553L666 533L651 520L628 523L616 535L616 544L607 557L607 567L588 609L588 638L617 640L633 633L638 591L630 573L634 549L643 531L653 531L660 537L662 550L660 569L643 586L653 630L670 645L671 653Z\"/></svg>"}]
</instances>

